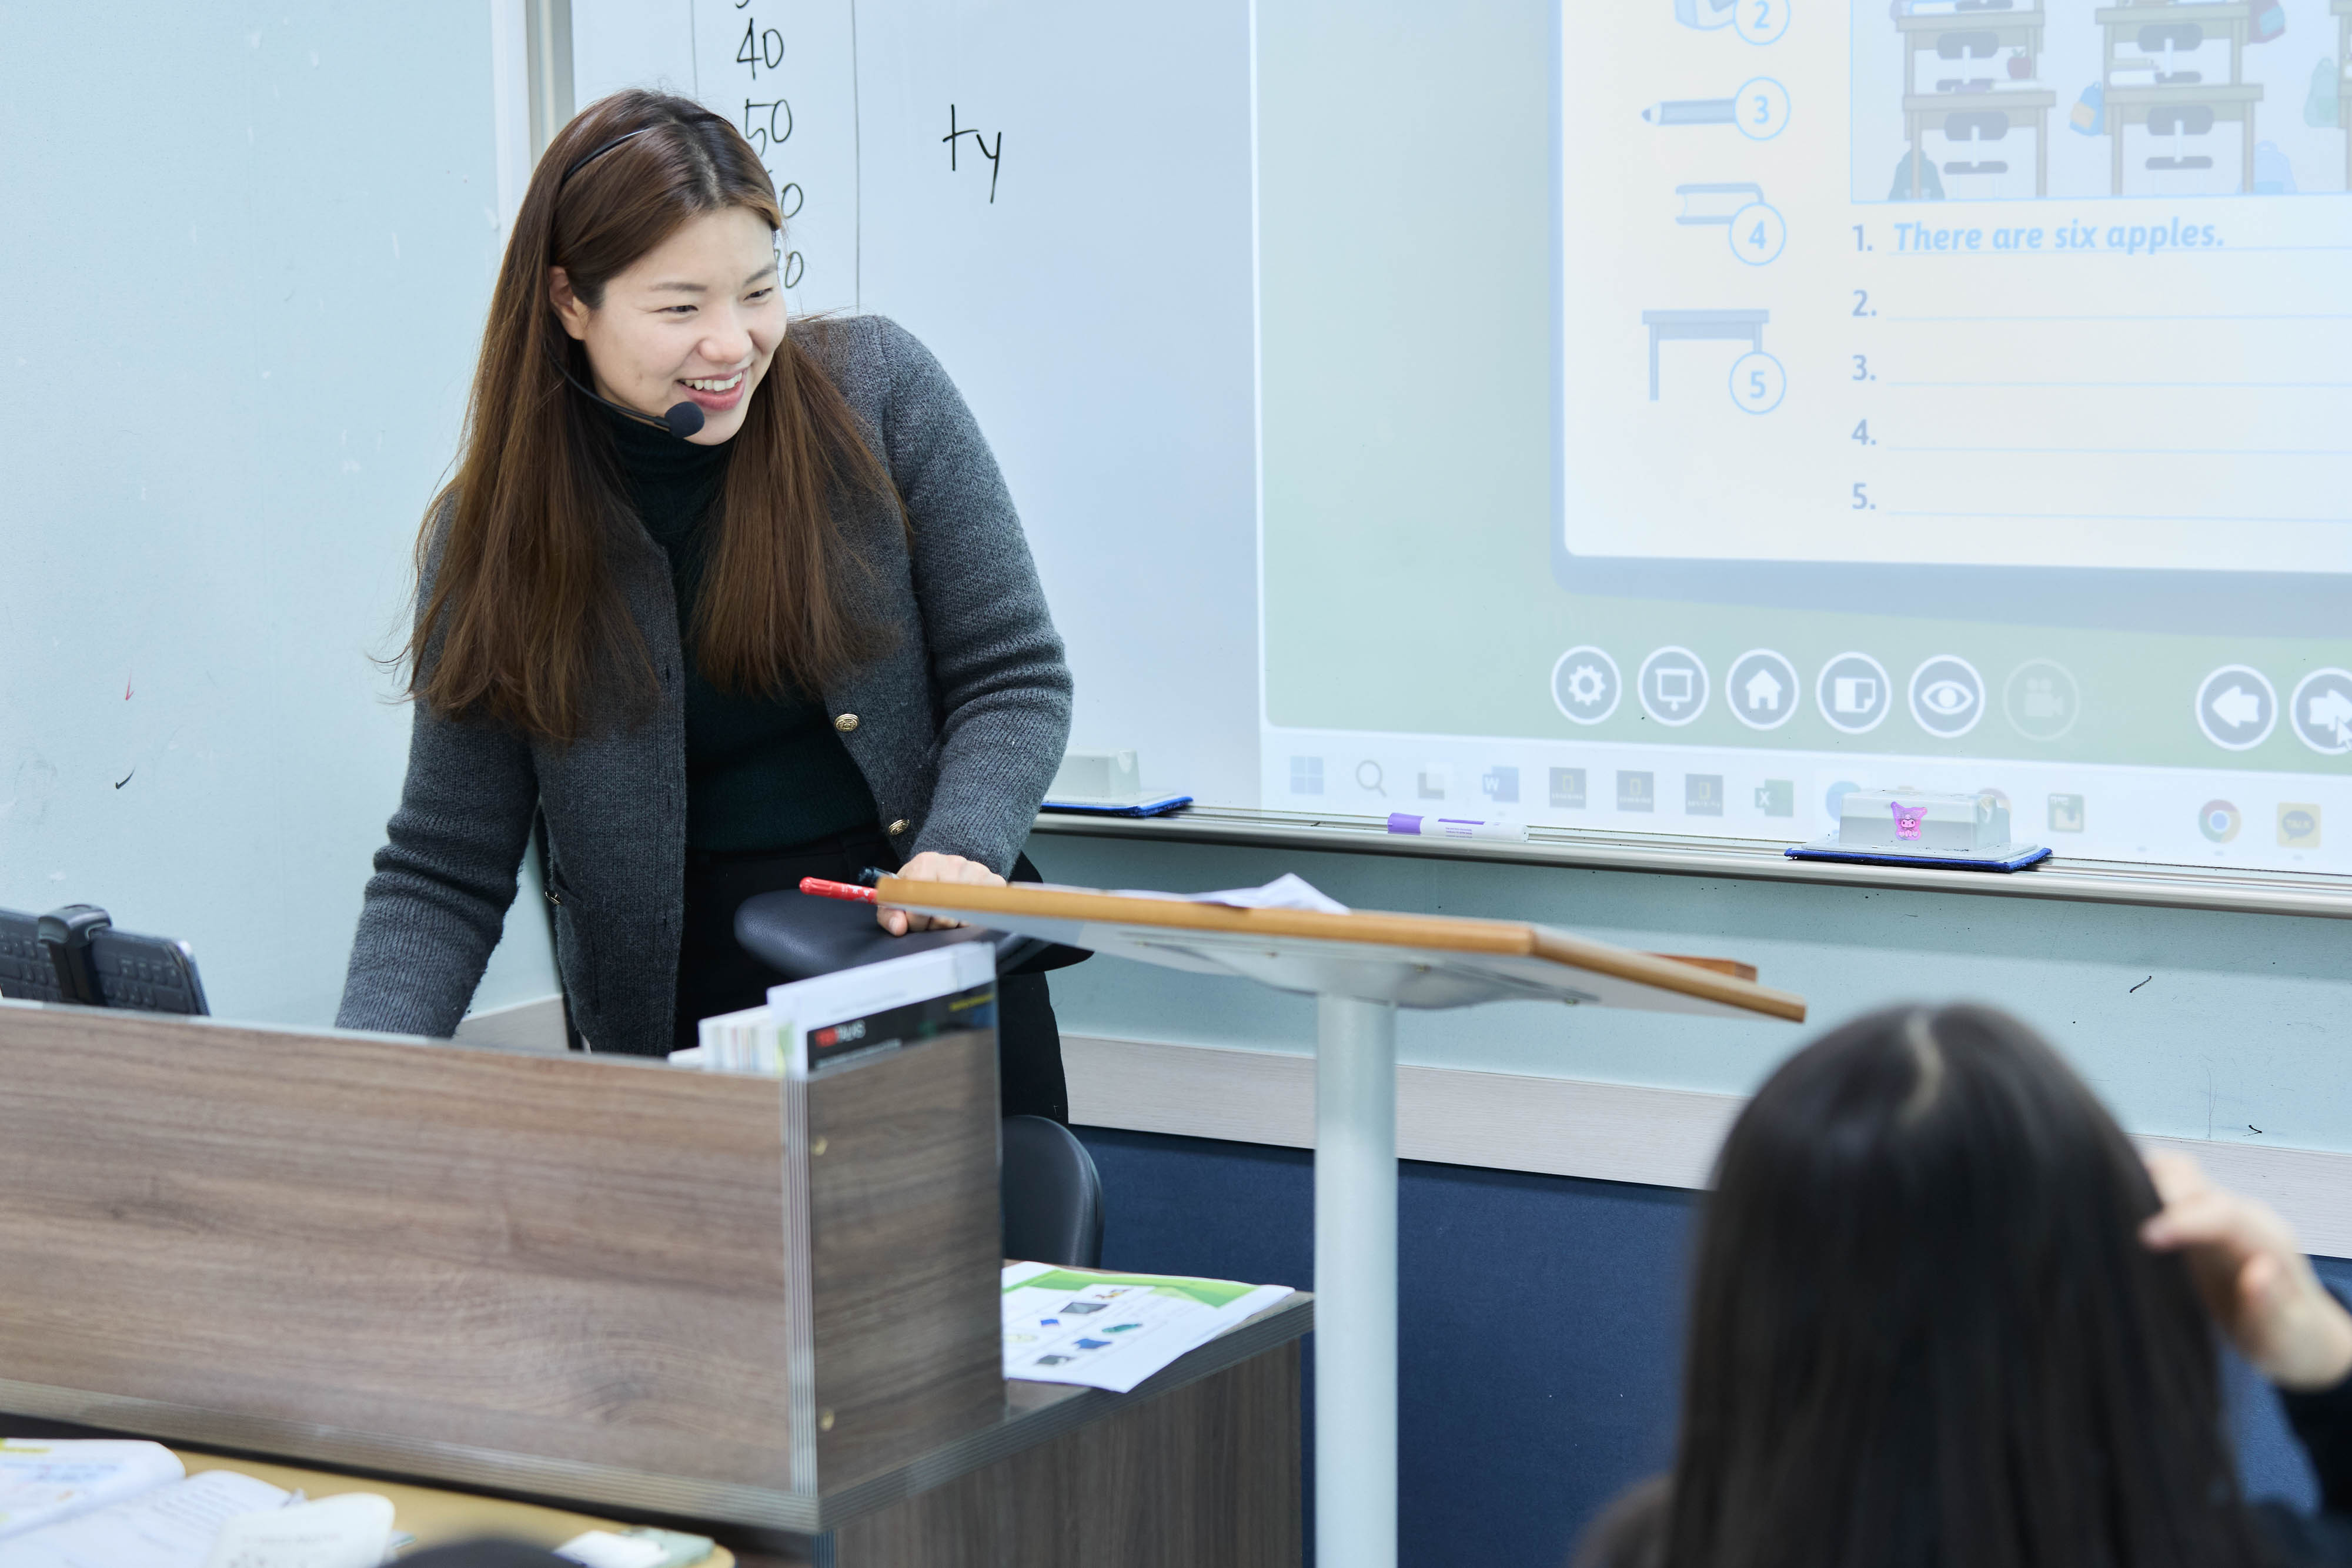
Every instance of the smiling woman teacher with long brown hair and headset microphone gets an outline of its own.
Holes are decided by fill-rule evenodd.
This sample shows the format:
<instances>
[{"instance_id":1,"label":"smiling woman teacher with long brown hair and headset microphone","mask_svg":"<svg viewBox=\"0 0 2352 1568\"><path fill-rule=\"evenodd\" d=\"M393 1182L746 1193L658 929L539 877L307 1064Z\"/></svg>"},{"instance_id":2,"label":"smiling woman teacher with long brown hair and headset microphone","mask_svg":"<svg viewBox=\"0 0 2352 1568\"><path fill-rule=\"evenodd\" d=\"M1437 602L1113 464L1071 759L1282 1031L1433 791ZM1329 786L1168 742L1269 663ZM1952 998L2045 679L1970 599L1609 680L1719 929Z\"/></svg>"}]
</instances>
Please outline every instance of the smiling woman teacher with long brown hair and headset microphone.
<instances>
[{"instance_id":1,"label":"smiling woman teacher with long brown hair and headset microphone","mask_svg":"<svg viewBox=\"0 0 2352 1568\"><path fill-rule=\"evenodd\" d=\"M593 1051L757 1006L755 893L1035 877L1070 670L1021 520L922 343L788 327L781 226L687 99L602 99L539 160L419 538L409 771L339 1025L456 1030L534 813ZM1000 987L1000 1051L1004 1112L1065 1119L1042 976Z\"/></svg>"}]
</instances>

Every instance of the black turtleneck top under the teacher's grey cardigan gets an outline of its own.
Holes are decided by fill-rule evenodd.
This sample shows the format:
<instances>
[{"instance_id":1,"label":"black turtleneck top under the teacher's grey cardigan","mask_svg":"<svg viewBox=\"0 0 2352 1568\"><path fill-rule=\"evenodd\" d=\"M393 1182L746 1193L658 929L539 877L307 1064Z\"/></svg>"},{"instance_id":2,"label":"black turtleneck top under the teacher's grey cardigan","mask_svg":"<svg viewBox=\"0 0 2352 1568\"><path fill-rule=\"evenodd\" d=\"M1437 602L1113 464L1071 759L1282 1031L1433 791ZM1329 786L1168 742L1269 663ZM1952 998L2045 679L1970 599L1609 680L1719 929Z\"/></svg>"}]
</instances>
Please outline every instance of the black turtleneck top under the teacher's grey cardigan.
<instances>
[{"instance_id":1,"label":"black turtleneck top under the teacher's grey cardigan","mask_svg":"<svg viewBox=\"0 0 2352 1568\"><path fill-rule=\"evenodd\" d=\"M670 557L687 665L687 849L774 851L875 825L873 792L804 691L720 691L694 663L703 543L731 442L699 447L602 411L637 517Z\"/></svg>"}]
</instances>

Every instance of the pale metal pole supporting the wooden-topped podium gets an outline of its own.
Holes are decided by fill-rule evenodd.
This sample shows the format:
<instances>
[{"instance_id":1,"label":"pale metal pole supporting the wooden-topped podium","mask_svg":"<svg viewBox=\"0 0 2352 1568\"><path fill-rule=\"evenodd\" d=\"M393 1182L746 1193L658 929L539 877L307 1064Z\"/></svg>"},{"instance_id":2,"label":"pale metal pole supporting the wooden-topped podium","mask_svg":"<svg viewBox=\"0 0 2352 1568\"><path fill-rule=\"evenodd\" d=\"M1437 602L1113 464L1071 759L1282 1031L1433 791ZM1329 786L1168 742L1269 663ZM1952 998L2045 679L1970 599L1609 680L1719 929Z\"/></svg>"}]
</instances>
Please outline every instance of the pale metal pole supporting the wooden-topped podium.
<instances>
[{"instance_id":1,"label":"pale metal pole supporting the wooden-topped podium","mask_svg":"<svg viewBox=\"0 0 2352 1568\"><path fill-rule=\"evenodd\" d=\"M1395 1568L1397 1009L1315 1025L1315 1561Z\"/></svg>"}]
</instances>

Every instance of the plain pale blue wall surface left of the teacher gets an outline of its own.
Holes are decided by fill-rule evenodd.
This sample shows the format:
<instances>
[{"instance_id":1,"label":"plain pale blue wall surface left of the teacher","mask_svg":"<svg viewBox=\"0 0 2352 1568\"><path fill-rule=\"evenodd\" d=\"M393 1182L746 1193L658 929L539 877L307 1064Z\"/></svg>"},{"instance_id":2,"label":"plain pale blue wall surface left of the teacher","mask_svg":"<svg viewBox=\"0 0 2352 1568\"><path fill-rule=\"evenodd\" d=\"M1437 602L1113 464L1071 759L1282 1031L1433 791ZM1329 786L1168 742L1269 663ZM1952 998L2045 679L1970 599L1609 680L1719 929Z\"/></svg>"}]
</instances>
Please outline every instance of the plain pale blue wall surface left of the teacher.
<instances>
[{"instance_id":1,"label":"plain pale blue wall surface left of the teacher","mask_svg":"<svg viewBox=\"0 0 2352 1568\"><path fill-rule=\"evenodd\" d=\"M214 1011L325 1023L407 757L372 658L499 261L489 14L0 35L0 905L103 905ZM548 990L515 947L482 1001Z\"/></svg>"}]
</instances>

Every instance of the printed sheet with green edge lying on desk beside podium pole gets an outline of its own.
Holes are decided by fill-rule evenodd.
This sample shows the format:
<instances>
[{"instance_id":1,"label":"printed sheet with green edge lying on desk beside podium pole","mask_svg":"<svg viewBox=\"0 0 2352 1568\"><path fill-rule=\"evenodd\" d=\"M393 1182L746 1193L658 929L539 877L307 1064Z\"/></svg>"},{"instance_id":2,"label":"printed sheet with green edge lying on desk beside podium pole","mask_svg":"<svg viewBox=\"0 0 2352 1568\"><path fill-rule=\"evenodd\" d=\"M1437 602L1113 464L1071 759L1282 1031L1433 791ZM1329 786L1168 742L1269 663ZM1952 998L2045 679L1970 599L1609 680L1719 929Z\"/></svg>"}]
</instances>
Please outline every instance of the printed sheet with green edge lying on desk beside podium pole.
<instances>
[{"instance_id":1,"label":"printed sheet with green edge lying on desk beside podium pole","mask_svg":"<svg viewBox=\"0 0 2352 1568\"><path fill-rule=\"evenodd\" d=\"M1004 1375L1124 1394L1291 1293L1235 1279L1004 1265Z\"/></svg>"}]
</instances>

